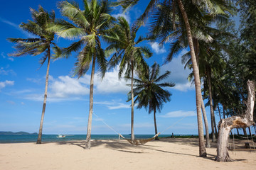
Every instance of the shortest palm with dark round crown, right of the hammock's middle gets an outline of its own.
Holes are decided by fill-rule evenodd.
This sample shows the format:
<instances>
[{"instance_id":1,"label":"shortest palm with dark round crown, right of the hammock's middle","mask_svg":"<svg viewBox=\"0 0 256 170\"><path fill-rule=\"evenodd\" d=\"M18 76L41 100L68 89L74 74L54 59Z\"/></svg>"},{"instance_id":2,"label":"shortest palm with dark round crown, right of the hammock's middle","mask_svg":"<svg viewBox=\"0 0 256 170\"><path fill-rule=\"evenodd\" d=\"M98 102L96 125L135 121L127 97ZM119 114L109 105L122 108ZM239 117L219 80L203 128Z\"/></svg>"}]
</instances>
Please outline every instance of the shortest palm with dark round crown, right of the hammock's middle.
<instances>
[{"instance_id":1,"label":"shortest palm with dark round crown, right of the hammock's middle","mask_svg":"<svg viewBox=\"0 0 256 170\"><path fill-rule=\"evenodd\" d=\"M137 108L146 108L149 114L154 112L154 128L157 134L156 127L156 110L161 112L163 103L171 101L171 93L162 89L163 87L173 87L174 83L163 82L164 79L169 77L171 72L166 71L159 76L159 64L154 63L151 68L149 67L139 74L139 79L134 79L134 97L137 96L134 103L138 103ZM159 140L158 137L155 140Z\"/></svg>"}]
</instances>

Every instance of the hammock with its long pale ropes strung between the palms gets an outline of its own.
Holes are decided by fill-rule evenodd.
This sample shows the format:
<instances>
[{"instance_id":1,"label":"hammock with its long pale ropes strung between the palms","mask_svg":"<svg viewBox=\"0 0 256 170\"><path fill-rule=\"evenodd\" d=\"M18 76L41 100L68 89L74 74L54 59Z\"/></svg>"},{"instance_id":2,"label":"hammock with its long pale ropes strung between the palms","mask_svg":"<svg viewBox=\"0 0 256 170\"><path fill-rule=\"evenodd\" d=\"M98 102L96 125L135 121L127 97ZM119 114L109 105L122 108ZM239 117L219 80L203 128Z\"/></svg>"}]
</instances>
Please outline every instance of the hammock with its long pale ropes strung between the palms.
<instances>
[{"instance_id":1,"label":"hammock with its long pale ropes strung between the palms","mask_svg":"<svg viewBox=\"0 0 256 170\"><path fill-rule=\"evenodd\" d=\"M98 115L96 115L96 113L92 112L93 115L95 115L97 118L99 118L102 123L104 123L105 125L107 125L107 123L105 123L104 120L102 120L102 118L100 118ZM144 145L146 144L146 142L149 142L151 140L154 140L155 137L158 137L161 133L165 132L166 130L169 130L169 128L171 128L172 126L176 125L177 123L179 123L181 120L183 120L184 118L186 118L188 115L184 116L183 118L181 118L180 120L176 121L176 123L174 123L173 125L170 125L168 128L166 128L164 131L157 133L156 135L154 135L154 137L151 138L147 138L147 139L135 139L135 140L128 140L127 138L125 138L123 135L121 135L119 132L115 131L110 125L107 125L108 128L110 128L111 130L113 130L117 135L119 135L119 137L122 137L124 140L127 140L127 142L129 142L132 145Z\"/></svg>"}]
</instances>

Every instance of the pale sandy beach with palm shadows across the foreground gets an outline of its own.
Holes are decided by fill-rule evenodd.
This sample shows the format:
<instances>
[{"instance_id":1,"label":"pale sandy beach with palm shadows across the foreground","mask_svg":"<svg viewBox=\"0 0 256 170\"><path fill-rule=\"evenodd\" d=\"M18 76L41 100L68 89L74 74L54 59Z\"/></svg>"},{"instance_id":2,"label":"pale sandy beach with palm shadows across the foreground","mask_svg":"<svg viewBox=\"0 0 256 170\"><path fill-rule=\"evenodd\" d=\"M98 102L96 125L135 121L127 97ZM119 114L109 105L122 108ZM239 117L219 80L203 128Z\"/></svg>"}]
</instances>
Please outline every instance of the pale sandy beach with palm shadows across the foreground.
<instances>
[{"instance_id":1,"label":"pale sandy beach with palm shadows across the foreground","mask_svg":"<svg viewBox=\"0 0 256 170\"><path fill-rule=\"evenodd\" d=\"M242 148L245 141L235 141ZM216 143L208 157L198 157L198 139L161 139L143 146L124 140L0 144L0 169L254 169L256 152L229 152L235 162L215 162Z\"/></svg>"}]
</instances>

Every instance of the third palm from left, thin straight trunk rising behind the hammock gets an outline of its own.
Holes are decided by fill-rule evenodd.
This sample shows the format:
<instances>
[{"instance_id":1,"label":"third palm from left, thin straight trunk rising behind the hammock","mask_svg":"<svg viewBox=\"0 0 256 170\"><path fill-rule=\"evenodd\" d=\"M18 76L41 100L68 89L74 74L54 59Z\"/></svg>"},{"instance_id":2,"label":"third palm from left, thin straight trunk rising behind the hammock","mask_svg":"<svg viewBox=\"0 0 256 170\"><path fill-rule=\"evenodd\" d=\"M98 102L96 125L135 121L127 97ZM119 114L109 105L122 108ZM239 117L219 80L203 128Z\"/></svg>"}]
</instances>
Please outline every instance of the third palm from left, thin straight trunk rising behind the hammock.
<instances>
[{"instance_id":1,"label":"third palm from left, thin straight trunk rising behind the hammock","mask_svg":"<svg viewBox=\"0 0 256 170\"><path fill-rule=\"evenodd\" d=\"M139 27L129 27L129 23L124 17L118 18L118 23L114 28L109 30L108 35L103 38L110 44L106 48L107 55L114 53L110 59L110 68L119 64L119 78L122 74L125 77L131 77L131 140L134 140L134 92L133 81L134 71L146 68L147 64L144 57L151 57L152 53L148 47L139 46L139 42L146 40L146 38L139 37L137 41L136 33Z\"/></svg>"}]
</instances>

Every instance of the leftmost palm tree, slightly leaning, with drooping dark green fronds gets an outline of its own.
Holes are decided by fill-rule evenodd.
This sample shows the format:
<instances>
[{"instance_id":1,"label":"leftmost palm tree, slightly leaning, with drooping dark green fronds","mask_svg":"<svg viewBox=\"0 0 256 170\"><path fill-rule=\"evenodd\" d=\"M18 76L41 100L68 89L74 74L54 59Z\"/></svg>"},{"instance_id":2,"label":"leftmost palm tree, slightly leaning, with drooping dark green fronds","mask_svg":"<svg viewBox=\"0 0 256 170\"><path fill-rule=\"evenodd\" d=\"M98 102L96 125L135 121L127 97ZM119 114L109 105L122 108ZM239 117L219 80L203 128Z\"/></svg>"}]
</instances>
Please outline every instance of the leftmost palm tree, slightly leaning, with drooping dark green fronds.
<instances>
[{"instance_id":1,"label":"leftmost palm tree, slightly leaning, with drooping dark green fronds","mask_svg":"<svg viewBox=\"0 0 256 170\"><path fill-rule=\"evenodd\" d=\"M53 42L55 33L53 31L48 31L47 28L50 24L55 22L55 12L52 11L48 13L43 9L42 6L39 6L38 11L33 8L30 9L31 16L33 21L28 21L28 23L21 23L20 27L27 31L28 33L33 34L36 38L8 38L10 42L14 42L16 52L10 54L11 56L18 57L21 55L41 55L44 54L41 58L41 64L48 59L47 71L46 71L46 87L45 94L43 99L43 111L41 115L41 123L38 132L37 144L41 144L42 141L42 132L43 132L43 118L46 111L46 98L48 90L48 76L49 76L49 67L50 67L50 48L53 47L53 50L59 50L59 47Z\"/></svg>"}]
</instances>

